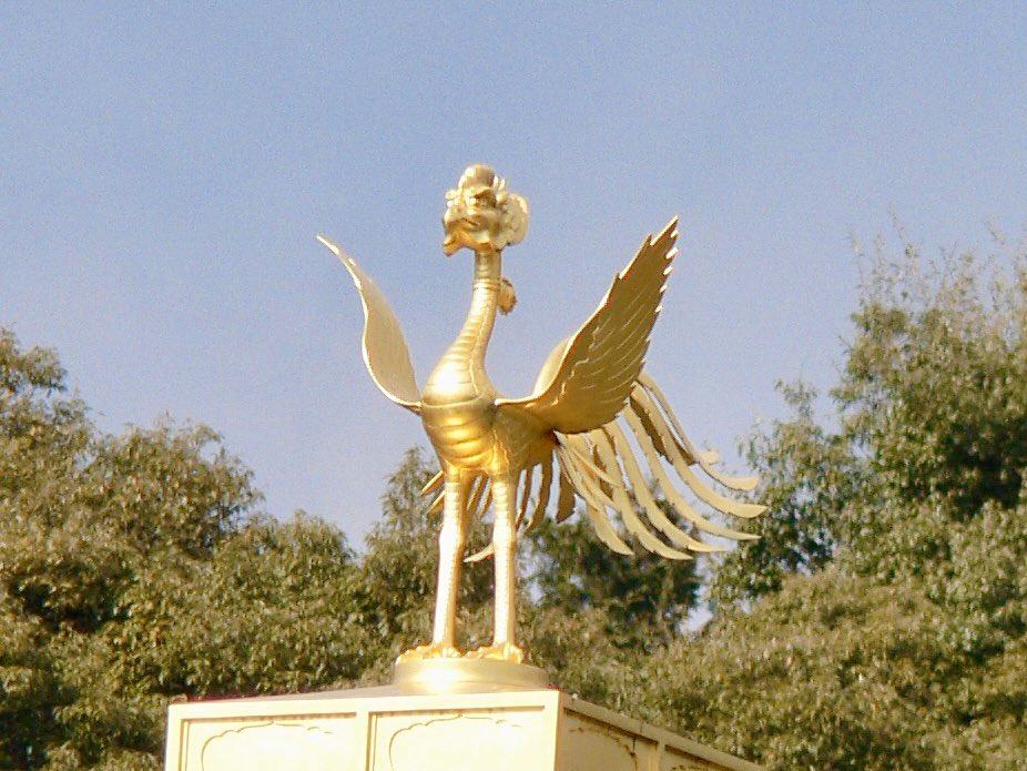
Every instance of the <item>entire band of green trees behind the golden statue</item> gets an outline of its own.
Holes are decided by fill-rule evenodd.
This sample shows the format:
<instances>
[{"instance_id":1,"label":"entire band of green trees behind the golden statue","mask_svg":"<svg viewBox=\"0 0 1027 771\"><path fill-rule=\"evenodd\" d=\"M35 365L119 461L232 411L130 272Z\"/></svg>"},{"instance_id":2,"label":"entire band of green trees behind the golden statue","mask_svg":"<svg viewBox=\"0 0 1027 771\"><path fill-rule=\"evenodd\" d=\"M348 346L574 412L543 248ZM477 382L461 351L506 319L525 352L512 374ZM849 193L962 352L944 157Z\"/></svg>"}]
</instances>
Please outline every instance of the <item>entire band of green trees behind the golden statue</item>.
<instances>
[{"instance_id":1,"label":"entire band of green trees behind the golden statue","mask_svg":"<svg viewBox=\"0 0 1027 771\"><path fill-rule=\"evenodd\" d=\"M525 539L533 661L774 769L1027 769L1023 250L878 257L838 382L782 394L745 445L759 541L699 570L576 518ZM434 470L409 450L355 548L267 515L206 427L100 430L54 354L0 331L0 767L159 768L174 697L387 678L429 630ZM490 599L490 564L468 566L465 645Z\"/></svg>"}]
</instances>

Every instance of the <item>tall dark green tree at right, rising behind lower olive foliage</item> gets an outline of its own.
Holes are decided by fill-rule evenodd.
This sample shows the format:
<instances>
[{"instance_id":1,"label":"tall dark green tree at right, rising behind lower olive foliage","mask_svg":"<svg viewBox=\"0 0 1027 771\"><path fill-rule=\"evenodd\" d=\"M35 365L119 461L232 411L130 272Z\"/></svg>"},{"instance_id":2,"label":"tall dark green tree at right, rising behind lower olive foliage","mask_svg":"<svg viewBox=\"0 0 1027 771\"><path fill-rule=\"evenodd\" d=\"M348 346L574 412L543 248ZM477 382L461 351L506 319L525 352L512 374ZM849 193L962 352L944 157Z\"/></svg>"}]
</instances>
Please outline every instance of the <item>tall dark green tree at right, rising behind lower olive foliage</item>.
<instances>
[{"instance_id":1,"label":"tall dark green tree at right, rising behind lower olive foliage","mask_svg":"<svg viewBox=\"0 0 1027 771\"><path fill-rule=\"evenodd\" d=\"M764 476L756 496L770 511L756 520L761 540L724 561L719 600L773 591L840 549L860 572L916 572L944 561L950 535L987 505L1017 505L1027 467L1027 268L1020 253L1010 262L983 285L970 255L928 267L912 245L897 263L877 256L830 393L834 415L818 420L816 394L786 386L793 417L750 440Z\"/></svg>"}]
</instances>

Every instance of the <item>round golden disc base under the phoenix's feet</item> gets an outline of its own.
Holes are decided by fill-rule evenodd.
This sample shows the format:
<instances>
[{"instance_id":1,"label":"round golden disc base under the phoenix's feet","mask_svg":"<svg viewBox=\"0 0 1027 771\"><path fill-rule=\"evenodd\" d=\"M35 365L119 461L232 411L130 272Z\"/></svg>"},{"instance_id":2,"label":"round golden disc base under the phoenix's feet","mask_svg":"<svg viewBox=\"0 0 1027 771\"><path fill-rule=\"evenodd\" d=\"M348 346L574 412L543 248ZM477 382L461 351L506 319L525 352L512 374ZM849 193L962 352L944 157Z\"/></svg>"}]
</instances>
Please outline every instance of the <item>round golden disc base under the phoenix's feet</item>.
<instances>
[{"instance_id":1,"label":"round golden disc base under the phoenix's feet","mask_svg":"<svg viewBox=\"0 0 1027 771\"><path fill-rule=\"evenodd\" d=\"M546 688L538 667L498 659L421 659L396 663L393 683L416 693L466 693L510 688Z\"/></svg>"}]
</instances>

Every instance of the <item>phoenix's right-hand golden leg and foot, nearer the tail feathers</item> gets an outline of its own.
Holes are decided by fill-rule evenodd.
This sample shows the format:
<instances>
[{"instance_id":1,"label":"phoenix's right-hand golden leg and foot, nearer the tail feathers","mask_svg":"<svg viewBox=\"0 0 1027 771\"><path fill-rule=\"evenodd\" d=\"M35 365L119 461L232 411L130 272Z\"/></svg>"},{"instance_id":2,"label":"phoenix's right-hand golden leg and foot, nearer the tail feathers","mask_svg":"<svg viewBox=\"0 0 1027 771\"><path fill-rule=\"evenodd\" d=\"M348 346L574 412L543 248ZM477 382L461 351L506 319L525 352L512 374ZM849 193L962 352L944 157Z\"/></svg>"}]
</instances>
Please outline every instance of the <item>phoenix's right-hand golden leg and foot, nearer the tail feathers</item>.
<instances>
[{"instance_id":1,"label":"phoenix's right-hand golden leg and foot, nearer the tail feathers","mask_svg":"<svg viewBox=\"0 0 1027 771\"><path fill-rule=\"evenodd\" d=\"M517 621L517 479L492 479L494 559L496 560L496 611L492 645L474 651L475 658L520 663L525 651L515 642Z\"/></svg>"}]
</instances>

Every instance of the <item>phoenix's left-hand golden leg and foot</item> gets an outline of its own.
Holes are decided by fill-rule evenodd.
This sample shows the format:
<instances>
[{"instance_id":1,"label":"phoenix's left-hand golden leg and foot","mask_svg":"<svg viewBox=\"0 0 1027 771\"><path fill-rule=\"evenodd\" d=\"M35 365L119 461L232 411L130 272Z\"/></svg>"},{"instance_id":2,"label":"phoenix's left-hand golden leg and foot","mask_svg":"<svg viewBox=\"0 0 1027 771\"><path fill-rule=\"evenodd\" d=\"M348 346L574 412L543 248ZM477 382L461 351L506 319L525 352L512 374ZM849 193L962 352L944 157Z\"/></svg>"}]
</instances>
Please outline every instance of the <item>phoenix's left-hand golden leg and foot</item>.
<instances>
[{"instance_id":1,"label":"phoenix's left-hand golden leg and foot","mask_svg":"<svg viewBox=\"0 0 1027 771\"><path fill-rule=\"evenodd\" d=\"M431 642L404 652L399 661L460 656L456 647L456 616L460 569L464 567L464 546L467 541L468 523L464 517L467 487L459 478L447 477L445 489L443 528L438 537L438 585L435 590L435 628Z\"/></svg>"}]
</instances>

